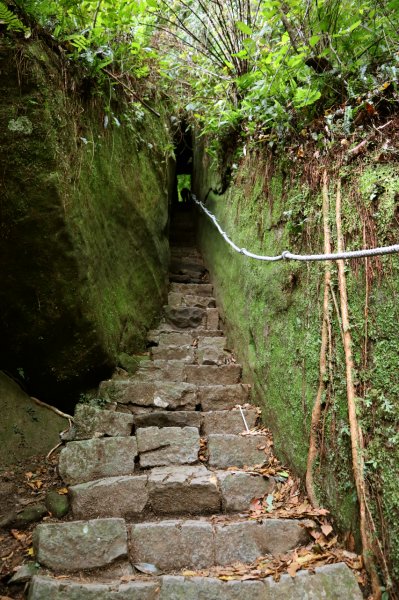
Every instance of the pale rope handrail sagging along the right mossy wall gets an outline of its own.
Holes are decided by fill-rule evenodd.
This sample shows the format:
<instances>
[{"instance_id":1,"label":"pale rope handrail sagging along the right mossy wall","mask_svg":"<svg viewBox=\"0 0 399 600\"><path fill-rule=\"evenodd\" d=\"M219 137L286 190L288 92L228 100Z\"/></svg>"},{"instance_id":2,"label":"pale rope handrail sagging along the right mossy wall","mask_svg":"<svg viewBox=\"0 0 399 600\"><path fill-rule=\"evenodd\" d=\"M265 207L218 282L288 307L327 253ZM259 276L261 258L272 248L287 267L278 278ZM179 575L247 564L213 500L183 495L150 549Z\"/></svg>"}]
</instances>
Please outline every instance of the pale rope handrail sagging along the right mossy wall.
<instances>
[{"instance_id":1,"label":"pale rope handrail sagging along the right mossy wall","mask_svg":"<svg viewBox=\"0 0 399 600\"><path fill-rule=\"evenodd\" d=\"M347 258L366 258L368 256L381 256L383 254L396 254L399 253L399 244L394 244L393 246L382 246L380 248L368 248L364 250L349 250L348 252L337 252L335 254L293 254L289 250L284 250L281 254L277 256L264 256L262 254L254 254L253 252L249 252L246 248L240 248L235 244L227 235L225 231L221 228L216 219L215 215L213 215L205 205L196 198L194 194L191 195L194 202L204 211L204 213L210 218L210 220L214 223L216 229L219 231L220 235L224 238L224 240L239 254L244 254L244 256L248 256L249 258L254 258L255 260L263 260L265 262L277 262L279 260L298 260L298 261L321 261L321 260L345 260Z\"/></svg>"}]
</instances>

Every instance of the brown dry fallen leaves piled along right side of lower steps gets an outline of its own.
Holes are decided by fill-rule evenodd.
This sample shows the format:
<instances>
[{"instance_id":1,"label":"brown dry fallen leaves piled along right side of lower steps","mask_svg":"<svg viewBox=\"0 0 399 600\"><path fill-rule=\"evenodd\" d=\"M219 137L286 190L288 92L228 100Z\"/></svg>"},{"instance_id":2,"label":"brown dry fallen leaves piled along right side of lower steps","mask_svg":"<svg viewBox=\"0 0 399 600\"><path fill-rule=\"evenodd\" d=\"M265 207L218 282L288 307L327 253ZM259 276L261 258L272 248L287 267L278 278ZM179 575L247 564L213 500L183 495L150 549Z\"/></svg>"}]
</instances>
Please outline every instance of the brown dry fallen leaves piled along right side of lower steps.
<instances>
[{"instance_id":1,"label":"brown dry fallen leaves piled along right side of lower steps","mask_svg":"<svg viewBox=\"0 0 399 600\"><path fill-rule=\"evenodd\" d=\"M295 577L300 570L314 571L316 567L343 562L354 571L358 583L364 586L367 583L367 576L362 557L352 551L353 547L348 550L343 543L340 543L329 521L329 511L312 506L301 488L300 479L294 477L289 469L273 455L273 438L270 430L258 427L241 435L262 435L261 449L265 452L266 460L255 466L233 466L228 470L244 471L254 476L262 475L267 479L273 478L275 485L272 492L254 498L249 511L241 514L240 517L259 521L271 518L300 519L301 525L308 531L310 541L306 546L296 548L290 553L260 556L251 564L235 563L198 571L185 570L182 575L217 577L222 581L256 580L271 576L275 581L279 581L283 574ZM265 438L266 442L264 442Z\"/></svg>"}]
</instances>

